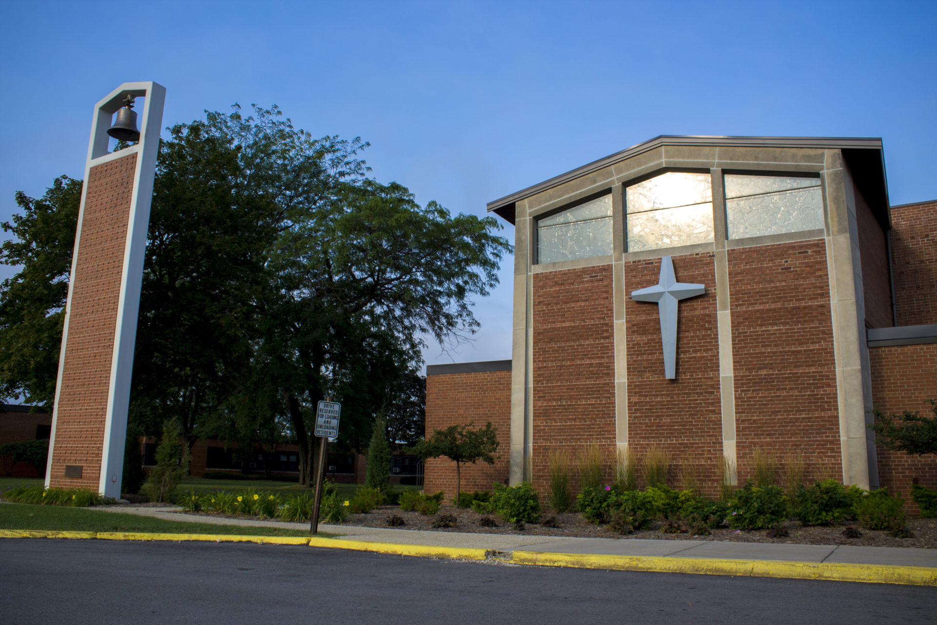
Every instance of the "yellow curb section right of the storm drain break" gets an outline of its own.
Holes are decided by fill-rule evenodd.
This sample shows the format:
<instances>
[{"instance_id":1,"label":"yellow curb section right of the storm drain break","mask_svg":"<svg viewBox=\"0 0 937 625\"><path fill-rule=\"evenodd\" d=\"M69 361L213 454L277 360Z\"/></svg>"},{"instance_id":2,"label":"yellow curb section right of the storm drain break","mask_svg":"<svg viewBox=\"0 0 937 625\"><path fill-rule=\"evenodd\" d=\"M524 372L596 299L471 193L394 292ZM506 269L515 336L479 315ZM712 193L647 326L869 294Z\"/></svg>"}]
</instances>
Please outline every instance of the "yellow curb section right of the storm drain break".
<instances>
[{"instance_id":1,"label":"yellow curb section right of the storm drain break","mask_svg":"<svg viewBox=\"0 0 937 625\"><path fill-rule=\"evenodd\" d=\"M841 582L937 586L937 569L918 566L721 558L660 558L612 556L607 554L554 554L536 551L514 551L510 561L513 564L609 569L614 571L781 577L785 579L828 579Z\"/></svg>"}]
</instances>

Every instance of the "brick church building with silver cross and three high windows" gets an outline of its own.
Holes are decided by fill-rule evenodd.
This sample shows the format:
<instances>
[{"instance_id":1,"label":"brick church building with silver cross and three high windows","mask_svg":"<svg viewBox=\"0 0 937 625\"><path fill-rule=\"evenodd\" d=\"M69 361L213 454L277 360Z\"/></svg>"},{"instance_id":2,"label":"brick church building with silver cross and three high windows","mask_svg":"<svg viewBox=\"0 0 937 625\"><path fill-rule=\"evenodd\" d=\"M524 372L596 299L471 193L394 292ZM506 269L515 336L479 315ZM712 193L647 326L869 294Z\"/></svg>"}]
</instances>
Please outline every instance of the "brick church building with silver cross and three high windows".
<instances>
[{"instance_id":1,"label":"brick church building with silver cross and three high windows","mask_svg":"<svg viewBox=\"0 0 937 625\"><path fill-rule=\"evenodd\" d=\"M889 206L882 141L659 137L488 210L515 227L513 358L426 378L427 432L498 427L463 488L544 492L547 453L593 443L609 475L617 450L659 448L708 495L756 452L937 486L937 459L867 428L937 398L937 202ZM453 490L451 463L425 488Z\"/></svg>"}]
</instances>

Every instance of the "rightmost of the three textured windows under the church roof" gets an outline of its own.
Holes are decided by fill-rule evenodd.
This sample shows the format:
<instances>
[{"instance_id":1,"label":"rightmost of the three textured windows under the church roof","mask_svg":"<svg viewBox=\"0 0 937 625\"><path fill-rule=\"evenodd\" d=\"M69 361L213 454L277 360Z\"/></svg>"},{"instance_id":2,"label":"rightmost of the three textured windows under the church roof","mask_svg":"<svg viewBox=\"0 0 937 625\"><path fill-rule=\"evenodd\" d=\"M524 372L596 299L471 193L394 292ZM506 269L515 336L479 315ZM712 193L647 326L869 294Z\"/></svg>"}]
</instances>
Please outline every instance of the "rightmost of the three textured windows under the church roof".
<instances>
[{"instance_id":1,"label":"rightmost of the three textured windows under the church roof","mask_svg":"<svg viewBox=\"0 0 937 625\"><path fill-rule=\"evenodd\" d=\"M818 177L726 173L724 179L730 239L824 227Z\"/></svg>"}]
</instances>

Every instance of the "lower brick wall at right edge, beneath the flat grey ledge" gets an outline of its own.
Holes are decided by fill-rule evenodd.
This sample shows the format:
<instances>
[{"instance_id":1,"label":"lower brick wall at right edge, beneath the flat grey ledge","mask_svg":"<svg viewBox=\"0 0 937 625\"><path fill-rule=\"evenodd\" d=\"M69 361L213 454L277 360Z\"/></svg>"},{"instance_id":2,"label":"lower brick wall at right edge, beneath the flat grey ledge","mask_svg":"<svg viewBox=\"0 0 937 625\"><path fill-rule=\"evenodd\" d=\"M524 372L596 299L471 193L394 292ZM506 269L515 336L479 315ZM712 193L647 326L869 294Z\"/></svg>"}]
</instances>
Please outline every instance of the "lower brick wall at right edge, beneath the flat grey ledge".
<instances>
[{"instance_id":1,"label":"lower brick wall at right edge, beneath the flat grey ledge","mask_svg":"<svg viewBox=\"0 0 937 625\"><path fill-rule=\"evenodd\" d=\"M937 399L937 343L870 348L872 401L885 414L904 410L931 415L926 399ZM878 448L879 484L910 501L911 484L937 488L937 457L898 454ZM917 513L917 506L907 508Z\"/></svg>"}]
</instances>

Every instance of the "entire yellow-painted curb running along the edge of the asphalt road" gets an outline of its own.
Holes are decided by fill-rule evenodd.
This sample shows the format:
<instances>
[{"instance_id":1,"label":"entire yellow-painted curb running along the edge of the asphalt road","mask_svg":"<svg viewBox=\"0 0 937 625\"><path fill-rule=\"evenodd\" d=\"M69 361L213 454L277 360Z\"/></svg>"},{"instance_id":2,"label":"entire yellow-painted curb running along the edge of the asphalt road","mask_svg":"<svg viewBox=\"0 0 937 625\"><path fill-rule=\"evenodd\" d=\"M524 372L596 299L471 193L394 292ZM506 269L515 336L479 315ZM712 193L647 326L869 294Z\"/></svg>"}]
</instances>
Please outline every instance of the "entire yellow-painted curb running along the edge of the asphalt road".
<instances>
[{"instance_id":1,"label":"entire yellow-painted curb running along the edge of the asphalt road","mask_svg":"<svg viewBox=\"0 0 937 625\"><path fill-rule=\"evenodd\" d=\"M690 573L734 575L737 577L776 577L782 579L824 579L840 582L902 584L937 587L937 568L838 562L796 562L785 560L742 560L722 558L661 558L653 556L613 556L609 554L559 554L540 551L496 551L472 547L443 547L424 544L370 543L335 538L304 536L241 536L233 534L166 534L143 532L54 531L0 529L0 538L98 539L109 541L171 541L203 543L303 544L326 549L348 549L394 556L493 560L529 566L555 566L606 571L646 573Z\"/></svg>"}]
</instances>

